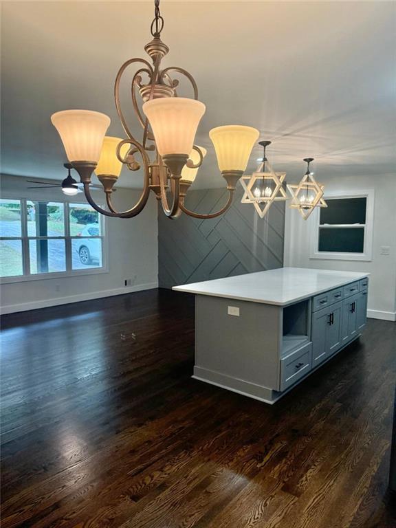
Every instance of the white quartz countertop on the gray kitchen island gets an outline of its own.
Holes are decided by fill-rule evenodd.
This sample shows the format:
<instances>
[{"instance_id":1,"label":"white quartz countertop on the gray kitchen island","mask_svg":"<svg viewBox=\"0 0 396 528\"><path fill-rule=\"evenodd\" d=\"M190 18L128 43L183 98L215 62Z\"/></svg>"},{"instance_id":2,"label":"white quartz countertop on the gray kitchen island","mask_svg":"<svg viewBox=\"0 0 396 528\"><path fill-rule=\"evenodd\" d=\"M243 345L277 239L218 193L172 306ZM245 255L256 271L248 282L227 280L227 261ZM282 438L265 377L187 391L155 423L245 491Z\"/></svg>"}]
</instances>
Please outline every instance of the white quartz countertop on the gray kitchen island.
<instances>
[{"instance_id":1,"label":"white quartz countertop on the gray kitchen island","mask_svg":"<svg viewBox=\"0 0 396 528\"><path fill-rule=\"evenodd\" d=\"M369 273L281 267L267 272L175 286L173 289L176 292L286 306L367 276Z\"/></svg>"}]
</instances>

